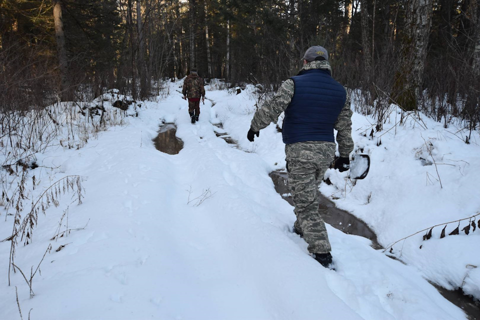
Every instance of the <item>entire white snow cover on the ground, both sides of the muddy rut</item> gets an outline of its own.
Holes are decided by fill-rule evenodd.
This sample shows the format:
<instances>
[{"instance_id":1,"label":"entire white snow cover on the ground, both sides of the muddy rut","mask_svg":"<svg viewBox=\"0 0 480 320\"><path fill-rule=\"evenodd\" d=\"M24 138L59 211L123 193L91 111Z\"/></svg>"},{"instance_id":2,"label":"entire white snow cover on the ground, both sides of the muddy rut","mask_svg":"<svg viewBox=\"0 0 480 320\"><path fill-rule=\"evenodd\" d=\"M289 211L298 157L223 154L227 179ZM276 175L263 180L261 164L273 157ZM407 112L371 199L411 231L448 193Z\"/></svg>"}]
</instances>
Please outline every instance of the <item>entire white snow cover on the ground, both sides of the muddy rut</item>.
<instances>
[{"instance_id":1,"label":"entire white snow cover on the ground, both sides of the muddy rut","mask_svg":"<svg viewBox=\"0 0 480 320\"><path fill-rule=\"evenodd\" d=\"M81 175L85 196L76 205L71 194L62 195L58 207L39 215L31 243L17 247L15 264L28 279L52 248L32 279L32 298L19 272L8 286L10 243L0 242L0 319L19 318L15 289L23 318L30 313L32 320L465 318L426 279L480 296L473 252L480 230L439 239L441 226L429 240L421 241L423 233L409 237L392 250L403 264L369 240L327 226L336 271L325 269L291 233L293 207L268 177L285 166L281 134L271 124L253 143L246 139L253 87L236 95L207 86L209 100L192 125L181 84L169 83L166 99L143 102L126 125L78 149L58 144L37 154L40 166L28 172L35 194ZM369 175L352 186L345 173L331 170L333 184L320 186L370 224L384 246L480 209L478 132L466 145L446 133L456 133L452 128L425 118L426 130L408 122L387 132L394 117L372 139L374 121L355 114L353 138L371 156ZM164 122L177 126L184 143L178 154L153 146ZM223 131L239 148L215 135ZM423 138L432 144L438 175L418 159L429 159ZM0 218L3 239L13 216L1 211ZM67 236L51 240L66 229Z\"/></svg>"}]
</instances>

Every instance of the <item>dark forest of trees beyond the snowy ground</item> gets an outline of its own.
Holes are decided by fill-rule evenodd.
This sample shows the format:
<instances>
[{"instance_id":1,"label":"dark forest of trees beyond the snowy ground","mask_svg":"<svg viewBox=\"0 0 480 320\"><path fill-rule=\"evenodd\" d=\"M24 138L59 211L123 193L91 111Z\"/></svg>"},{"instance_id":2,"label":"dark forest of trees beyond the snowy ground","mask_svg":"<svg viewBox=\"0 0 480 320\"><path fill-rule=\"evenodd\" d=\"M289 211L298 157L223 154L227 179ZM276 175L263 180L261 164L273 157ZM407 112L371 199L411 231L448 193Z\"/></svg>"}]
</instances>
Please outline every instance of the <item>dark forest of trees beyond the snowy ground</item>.
<instances>
[{"instance_id":1,"label":"dark forest of trees beyond the snowy ground","mask_svg":"<svg viewBox=\"0 0 480 320\"><path fill-rule=\"evenodd\" d=\"M478 0L1 0L1 111L111 88L148 99L192 66L272 91L311 45L377 129L390 103L480 122Z\"/></svg>"}]
</instances>

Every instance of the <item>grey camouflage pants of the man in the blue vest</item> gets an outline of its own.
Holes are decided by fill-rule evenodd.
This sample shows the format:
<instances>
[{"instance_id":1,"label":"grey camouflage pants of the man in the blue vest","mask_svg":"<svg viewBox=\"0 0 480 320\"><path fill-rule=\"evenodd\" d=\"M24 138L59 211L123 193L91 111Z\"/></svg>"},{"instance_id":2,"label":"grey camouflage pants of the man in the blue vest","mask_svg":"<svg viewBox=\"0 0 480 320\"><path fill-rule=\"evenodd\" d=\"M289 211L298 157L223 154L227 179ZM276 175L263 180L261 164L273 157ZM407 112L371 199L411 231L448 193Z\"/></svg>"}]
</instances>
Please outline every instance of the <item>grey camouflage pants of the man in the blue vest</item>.
<instances>
[{"instance_id":1,"label":"grey camouflage pants of the man in the blue vest","mask_svg":"<svg viewBox=\"0 0 480 320\"><path fill-rule=\"evenodd\" d=\"M333 160L335 143L307 141L287 144L285 154L288 184L295 205L295 228L303 233L311 253L331 250L328 234L319 209L318 185Z\"/></svg>"}]
</instances>

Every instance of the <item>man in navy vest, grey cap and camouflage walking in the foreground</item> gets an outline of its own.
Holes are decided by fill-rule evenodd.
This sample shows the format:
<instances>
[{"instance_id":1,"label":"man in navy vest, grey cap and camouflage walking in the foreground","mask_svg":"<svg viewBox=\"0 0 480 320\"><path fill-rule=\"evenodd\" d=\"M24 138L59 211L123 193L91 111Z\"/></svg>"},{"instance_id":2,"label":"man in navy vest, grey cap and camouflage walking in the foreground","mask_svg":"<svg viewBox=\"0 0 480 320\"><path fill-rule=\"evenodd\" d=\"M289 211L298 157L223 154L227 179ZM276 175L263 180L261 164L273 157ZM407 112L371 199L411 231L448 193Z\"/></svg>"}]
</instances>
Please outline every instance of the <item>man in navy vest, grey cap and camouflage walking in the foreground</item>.
<instances>
[{"instance_id":1,"label":"man in navy vest, grey cap and camouflage walking in the foreground","mask_svg":"<svg viewBox=\"0 0 480 320\"><path fill-rule=\"evenodd\" d=\"M328 53L316 45L303 55L303 67L296 76L282 83L271 100L253 115L247 138L285 112L282 138L285 143L286 170L295 205L293 231L308 243L308 251L323 266L332 262L331 247L319 209L318 185L335 155L336 129L339 158L335 169L346 170L353 150L351 139L350 97L346 89L331 77Z\"/></svg>"}]
</instances>

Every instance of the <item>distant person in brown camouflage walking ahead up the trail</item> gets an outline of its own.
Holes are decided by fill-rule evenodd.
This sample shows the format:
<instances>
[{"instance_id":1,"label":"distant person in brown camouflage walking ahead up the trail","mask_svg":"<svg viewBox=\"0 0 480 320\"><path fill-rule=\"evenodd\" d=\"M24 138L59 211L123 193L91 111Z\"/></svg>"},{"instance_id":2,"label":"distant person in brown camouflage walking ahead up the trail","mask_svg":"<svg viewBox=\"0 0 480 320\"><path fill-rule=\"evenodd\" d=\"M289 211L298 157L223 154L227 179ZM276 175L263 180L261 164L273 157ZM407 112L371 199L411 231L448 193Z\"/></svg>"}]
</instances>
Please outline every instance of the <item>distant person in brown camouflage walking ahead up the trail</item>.
<instances>
[{"instance_id":1,"label":"distant person in brown camouflage walking ahead up the trail","mask_svg":"<svg viewBox=\"0 0 480 320\"><path fill-rule=\"evenodd\" d=\"M181 92L185 100L188 98L188 114L190 114L191 123L195 123L200 115L200 98L203 103L205 102L203 79L198 76L196 68L191 68L190 74L183 82Z\"/></svg>"}]
</instances>

